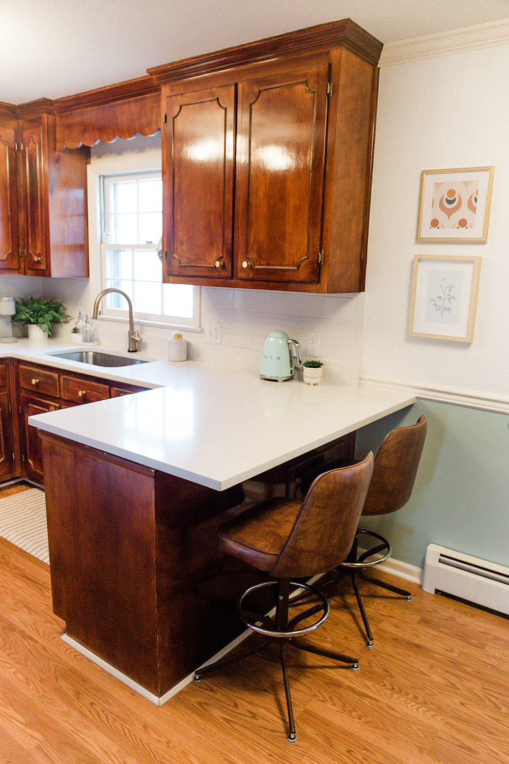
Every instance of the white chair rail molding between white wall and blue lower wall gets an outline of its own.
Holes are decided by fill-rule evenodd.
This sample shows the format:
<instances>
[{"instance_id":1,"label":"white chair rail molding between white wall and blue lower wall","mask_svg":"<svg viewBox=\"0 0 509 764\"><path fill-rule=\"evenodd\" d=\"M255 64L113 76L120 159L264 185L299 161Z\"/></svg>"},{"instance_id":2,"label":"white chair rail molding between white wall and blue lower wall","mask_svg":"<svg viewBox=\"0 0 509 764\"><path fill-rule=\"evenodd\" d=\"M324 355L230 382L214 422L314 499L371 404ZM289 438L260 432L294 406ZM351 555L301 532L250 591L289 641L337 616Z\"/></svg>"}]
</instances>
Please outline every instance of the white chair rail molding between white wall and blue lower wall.
<instances>
[{"instance_id":1,"label":"white chair rail molding between white wall and blue lower wall","mask_svg":"<svg viewBox=\"0 0 509 764\"><path fill-rule=\"evenodd\" d=\"M470 409L509 414L509 397L504 395L490 395L476 390L462 390L459 387L440 387L432 384L424 385L419 382L404 382L386 379L385 377L369 377L369 374L360 375L360 386L401 390L402 392L413 393L414 396L422 400L453 403L455 406L467 406Z\"/></svg>"}]
</instances>

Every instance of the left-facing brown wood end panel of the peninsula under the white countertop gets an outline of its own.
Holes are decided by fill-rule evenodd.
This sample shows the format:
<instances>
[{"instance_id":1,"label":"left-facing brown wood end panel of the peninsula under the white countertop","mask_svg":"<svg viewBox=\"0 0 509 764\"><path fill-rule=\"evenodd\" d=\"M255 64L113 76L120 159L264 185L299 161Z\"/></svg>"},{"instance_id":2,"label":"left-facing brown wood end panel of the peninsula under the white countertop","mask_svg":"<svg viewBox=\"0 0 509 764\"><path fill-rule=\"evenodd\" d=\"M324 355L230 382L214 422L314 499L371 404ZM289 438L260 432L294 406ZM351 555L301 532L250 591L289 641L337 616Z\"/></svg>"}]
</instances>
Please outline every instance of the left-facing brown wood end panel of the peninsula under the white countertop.
<instances>
[{"instance_id":1,"label":"left-facing brown wood end panel of the peninsula under the white countertop","mask_svg":"<svg viewBox=\"0 0 509 764\"><path fill-rule=\"evenodd\" d=\"M153 472L42 434L53 610L158 694Z\"/></svg>"}]
</instances>

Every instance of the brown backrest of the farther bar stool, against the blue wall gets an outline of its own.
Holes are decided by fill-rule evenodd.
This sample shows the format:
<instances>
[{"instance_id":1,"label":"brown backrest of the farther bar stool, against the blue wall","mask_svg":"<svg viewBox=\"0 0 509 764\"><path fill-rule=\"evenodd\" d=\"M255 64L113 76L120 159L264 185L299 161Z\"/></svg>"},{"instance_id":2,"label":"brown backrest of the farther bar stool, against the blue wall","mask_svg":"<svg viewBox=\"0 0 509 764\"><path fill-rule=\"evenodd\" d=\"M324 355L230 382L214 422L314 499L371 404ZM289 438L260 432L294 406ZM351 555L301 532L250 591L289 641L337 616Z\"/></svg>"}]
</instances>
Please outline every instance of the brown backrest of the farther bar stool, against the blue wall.
<instances>
[{"instance_id":1,"label":"brown backrest of the farther bar stool, against the blue wall","mask_svg":"<svg viewBox=\"0 0 509 764\"><path fill-rule=\"evenodd\" d=\"M395 512L408 502L414 488L426 432L427 421L423 414L414 425L398 427L385 435L375 457L363 516Z\"/></svg>"}]
</instances>

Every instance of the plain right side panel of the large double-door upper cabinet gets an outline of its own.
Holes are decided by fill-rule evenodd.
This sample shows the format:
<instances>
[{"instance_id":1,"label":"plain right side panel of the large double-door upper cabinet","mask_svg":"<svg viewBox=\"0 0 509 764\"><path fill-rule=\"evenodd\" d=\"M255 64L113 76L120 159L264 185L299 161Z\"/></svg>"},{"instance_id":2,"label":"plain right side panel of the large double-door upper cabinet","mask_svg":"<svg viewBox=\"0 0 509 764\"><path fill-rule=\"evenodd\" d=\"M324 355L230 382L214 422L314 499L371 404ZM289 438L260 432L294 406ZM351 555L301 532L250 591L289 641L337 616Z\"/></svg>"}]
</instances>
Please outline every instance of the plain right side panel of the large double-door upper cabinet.
<instances>
[{"instance_id":1,"label":"plain right side panel of the large double-door upper cabinet","mask_svg":"<svg viewBox=\"0 0 509 764\"><path fill-rule=\"evenodd\" d=\"M337 113L328 145L324 251L329 293L364 289L377 70L350 50L334 51ZM335 108L333 108L333 106Z\"/></svg>"}]
</instances>

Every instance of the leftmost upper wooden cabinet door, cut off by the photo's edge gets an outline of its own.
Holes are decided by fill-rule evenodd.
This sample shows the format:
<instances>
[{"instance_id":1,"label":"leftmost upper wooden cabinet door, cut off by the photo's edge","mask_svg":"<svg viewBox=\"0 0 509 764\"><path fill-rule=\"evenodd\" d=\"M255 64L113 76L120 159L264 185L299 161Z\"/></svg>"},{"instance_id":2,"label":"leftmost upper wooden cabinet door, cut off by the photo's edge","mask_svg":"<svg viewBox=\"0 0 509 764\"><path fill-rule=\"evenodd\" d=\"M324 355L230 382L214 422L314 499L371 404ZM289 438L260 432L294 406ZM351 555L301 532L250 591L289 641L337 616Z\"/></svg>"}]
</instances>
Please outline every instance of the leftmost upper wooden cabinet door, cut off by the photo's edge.
<instances>
[{"instance_id":1,"label":"leftmost upper wooden cabinet door, cut off by the photo's edge","mask_svg":"<svg viewBox=\"0 0 509 764\"><path fill-rule=\"evenodd\" d=\"M16 131L0 125L0 268L18 270Z\"/></svg>"}]
</instances>

